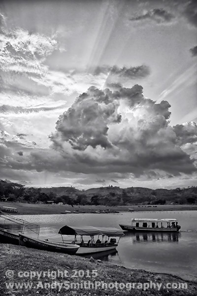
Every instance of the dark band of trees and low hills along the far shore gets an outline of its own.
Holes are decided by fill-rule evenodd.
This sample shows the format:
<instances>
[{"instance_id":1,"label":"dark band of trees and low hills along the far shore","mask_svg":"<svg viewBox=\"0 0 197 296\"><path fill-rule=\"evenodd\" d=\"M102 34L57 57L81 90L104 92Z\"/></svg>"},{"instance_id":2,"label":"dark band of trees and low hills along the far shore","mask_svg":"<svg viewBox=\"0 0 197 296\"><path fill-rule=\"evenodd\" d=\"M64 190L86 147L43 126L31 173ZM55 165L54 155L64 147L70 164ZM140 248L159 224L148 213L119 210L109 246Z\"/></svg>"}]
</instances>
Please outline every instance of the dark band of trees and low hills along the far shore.
<instances>
[{"instance_id":1,"label":"dark band of trees and low hills along the far shore","mask_svg":"<svg viewBox=\"0 0 197 296\"><path fill-rule=\"evenodd\" d=\"M197 187L150 189L142 187L107 187L78 190L74 187L34 188L0 181L0 200L9 202L47 203L67 205L164 205L197 204Z\"/></svg>"}]
</instances>

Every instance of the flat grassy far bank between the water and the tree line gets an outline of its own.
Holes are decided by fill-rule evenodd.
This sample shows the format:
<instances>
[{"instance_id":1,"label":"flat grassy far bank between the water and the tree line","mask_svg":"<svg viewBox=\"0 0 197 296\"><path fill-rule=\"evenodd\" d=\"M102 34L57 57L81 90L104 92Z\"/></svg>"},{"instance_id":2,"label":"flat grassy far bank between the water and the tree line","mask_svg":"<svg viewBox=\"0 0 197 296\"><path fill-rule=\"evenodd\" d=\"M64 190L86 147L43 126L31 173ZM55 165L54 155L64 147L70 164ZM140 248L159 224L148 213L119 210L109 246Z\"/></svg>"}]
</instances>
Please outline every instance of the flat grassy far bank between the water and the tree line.
<instances>
[{"instance_id":1,"label":"flat grassy far bank between the water and the tree line","mask_svg":"<svg viewBox=\"0 0 197 296\"><path fill-rule=\"evenodd\" d=\"M0 207L9 206L18 208L18 214L61 214L65 211L78 211L79 213L94 213L96 211L119 211L128 212L130 208L134 211L184 211L184 210L197 210L197 205L158 205L153 206L69 206L69 205L46 205L46 204L29 204L29 203L17 203L17 202L0 202Z\"/></svg>"}]
</instances>

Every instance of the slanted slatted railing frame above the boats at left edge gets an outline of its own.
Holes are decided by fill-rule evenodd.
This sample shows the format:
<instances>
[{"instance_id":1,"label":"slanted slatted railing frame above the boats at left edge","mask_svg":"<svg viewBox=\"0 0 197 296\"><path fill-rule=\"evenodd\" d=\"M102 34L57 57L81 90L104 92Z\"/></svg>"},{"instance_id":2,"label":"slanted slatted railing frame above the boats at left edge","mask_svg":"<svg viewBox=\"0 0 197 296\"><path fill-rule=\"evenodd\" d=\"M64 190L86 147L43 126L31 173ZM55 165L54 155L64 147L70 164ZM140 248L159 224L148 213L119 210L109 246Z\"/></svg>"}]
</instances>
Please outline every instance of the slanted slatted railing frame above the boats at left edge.
<instances>
[{"instance_id":1,"label":"slanted slatted railing frame above the boats at left edge","mask_svg":"<svg viewBox=\"0 0 197 296\"><path fill-rule=\"evenodd\" d=\"M39 235L40 226L37 225L37 224L25 221L25 220L20 219L20 218L13 217L13 216L5 214L5 213L3 213L1 211L0 211L0 218L2 218L4 220L3 230L6 230L6 222L10 221L10 222L13 222L13 223L15 223L17 225L21 225L20 232L22 232L22 233L25 233L25 230L28 229L29 231L32 231L32 232L36 233L37 236Z\"/></svg>"}]
</instances>

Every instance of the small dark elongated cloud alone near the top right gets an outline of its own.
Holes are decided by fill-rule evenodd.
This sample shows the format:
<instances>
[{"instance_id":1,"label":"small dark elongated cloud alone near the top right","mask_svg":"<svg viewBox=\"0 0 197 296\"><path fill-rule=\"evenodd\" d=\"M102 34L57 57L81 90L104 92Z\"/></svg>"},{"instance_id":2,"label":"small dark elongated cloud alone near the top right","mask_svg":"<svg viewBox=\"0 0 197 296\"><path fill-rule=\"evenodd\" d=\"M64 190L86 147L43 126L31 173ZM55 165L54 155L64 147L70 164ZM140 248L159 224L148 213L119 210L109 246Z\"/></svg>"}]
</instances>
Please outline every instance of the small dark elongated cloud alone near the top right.
<instances>
[{"instance_id":1,"label":"small dark elongated cloud alone near the top right","mask_svg":"<svg viewBox=\"0 0 197 296\"><path fill-rule=\"evenodd\" d=\"M142 20L151 20L157 24L170 23L174 18L173 14L164 10L163 8L154 8L152 10L146 11L143 14L131 17L131 21L142 21Z\"/></svg>"}]
</instances>

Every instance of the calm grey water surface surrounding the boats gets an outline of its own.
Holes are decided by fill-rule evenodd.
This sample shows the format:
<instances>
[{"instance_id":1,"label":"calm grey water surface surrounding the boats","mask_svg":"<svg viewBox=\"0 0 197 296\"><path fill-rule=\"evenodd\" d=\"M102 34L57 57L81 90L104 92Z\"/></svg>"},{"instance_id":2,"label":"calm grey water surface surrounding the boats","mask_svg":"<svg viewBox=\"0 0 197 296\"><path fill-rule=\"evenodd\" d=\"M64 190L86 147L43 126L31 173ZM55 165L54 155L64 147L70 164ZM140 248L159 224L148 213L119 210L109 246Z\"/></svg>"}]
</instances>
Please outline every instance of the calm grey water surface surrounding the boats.
<instances>
[{"instance_id":1,"label":"calm grey water surface surrounding the boats","mask_svg":"<svg viewBox=\"0 0 197 296\"><path fill-rule=\"evenodd\" d=\"M39 224L43 238L59 238L58 230L66 224L119 227L119 223L130 224L131 218L176 218L181 225L180 233L127 233L121 238L117 253L96 255L96 258L197 280L197 211L23 215L17 218ZM18 230L15 225L7 226Z\"/></svg>"}]
</instances>

